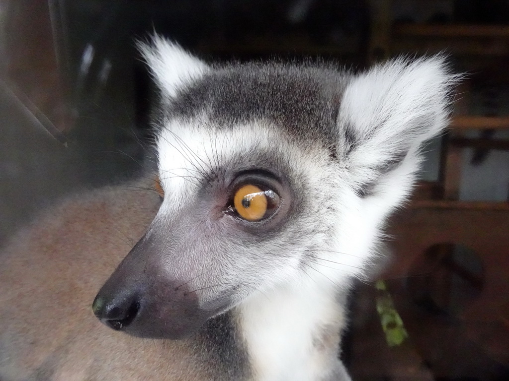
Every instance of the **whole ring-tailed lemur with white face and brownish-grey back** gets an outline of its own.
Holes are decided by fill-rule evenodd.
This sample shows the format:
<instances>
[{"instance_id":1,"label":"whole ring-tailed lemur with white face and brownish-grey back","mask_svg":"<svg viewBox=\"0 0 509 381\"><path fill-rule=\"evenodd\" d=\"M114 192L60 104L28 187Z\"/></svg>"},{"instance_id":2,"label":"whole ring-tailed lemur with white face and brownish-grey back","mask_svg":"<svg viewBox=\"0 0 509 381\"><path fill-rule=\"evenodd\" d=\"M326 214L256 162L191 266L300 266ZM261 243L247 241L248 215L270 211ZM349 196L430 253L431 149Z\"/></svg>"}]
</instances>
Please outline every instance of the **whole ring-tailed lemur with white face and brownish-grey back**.
<instances>
[{"instance_id":1,"label":"whole ring-tailed lemur with white face and brownish-grey back","mask_svg":"<svg viewBox=\"0 0 509 381\"><path fill-rule=\"evenodd\" d=\"M0 379L349 379L349 279L409 195L456 77L440 56L352 74L140 48L164 199L75 197L4 249ZM126 335L89 303L142 234L93 304Z\"/></svg>"}]
</instances>

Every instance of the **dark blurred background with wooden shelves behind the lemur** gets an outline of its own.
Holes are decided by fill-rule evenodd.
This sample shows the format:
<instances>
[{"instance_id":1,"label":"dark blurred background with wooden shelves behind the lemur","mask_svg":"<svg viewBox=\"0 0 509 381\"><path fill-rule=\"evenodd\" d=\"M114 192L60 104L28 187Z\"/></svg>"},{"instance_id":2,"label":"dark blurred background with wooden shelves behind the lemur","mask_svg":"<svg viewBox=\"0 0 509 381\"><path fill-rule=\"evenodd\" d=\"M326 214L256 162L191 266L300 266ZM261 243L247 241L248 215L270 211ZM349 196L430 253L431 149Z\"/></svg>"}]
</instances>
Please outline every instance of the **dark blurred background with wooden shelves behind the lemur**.
<instances>
[{"instance_id":1,"label":"dark blurred background with wooden shelves behind the lemur","mask_svg":"<svg viewBox=\"0 0 509 381\"><path fill-rule=\"evenodd\" d=\"M153 30L208 60L334 60L361 70L445 51L458 87L391 265L356 285L354 380L509 379L507 0L0 0L0 243L75 189L136 176Z\"/></svg>"}]
</instances>

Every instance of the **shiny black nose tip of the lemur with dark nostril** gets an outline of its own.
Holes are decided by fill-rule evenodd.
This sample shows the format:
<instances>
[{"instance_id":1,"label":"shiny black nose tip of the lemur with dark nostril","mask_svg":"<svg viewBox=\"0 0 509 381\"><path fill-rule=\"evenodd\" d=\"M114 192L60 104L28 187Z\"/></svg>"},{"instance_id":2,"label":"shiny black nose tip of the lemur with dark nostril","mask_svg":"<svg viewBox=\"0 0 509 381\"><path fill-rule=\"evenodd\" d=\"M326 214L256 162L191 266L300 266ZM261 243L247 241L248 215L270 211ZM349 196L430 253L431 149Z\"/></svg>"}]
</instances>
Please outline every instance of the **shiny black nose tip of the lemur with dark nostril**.
<instances>
[{"instance_id":1,"label":"shiny black nose tip of the lemur with dark nostril","mask_svg":"<svg viewBox=\"0 0 509 381\"><path fill-rule=\"evenodd\" d=\"M108 300L98 294L92 304L92 310L101 323L120 331L127 328L136 319L139 301L134 296Z\"/></svg>"}]
</instances>

